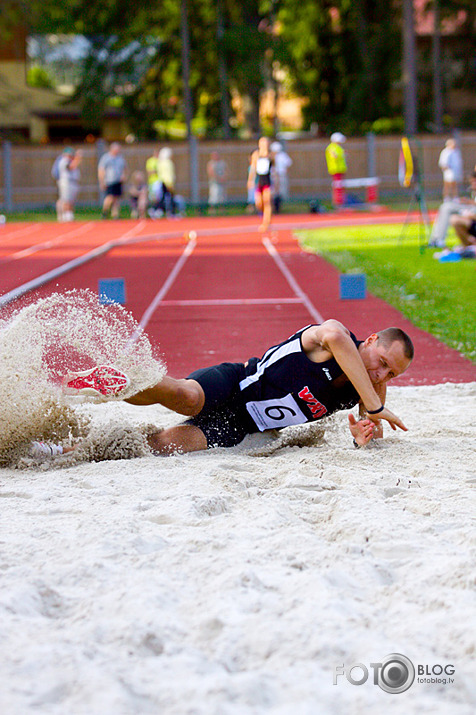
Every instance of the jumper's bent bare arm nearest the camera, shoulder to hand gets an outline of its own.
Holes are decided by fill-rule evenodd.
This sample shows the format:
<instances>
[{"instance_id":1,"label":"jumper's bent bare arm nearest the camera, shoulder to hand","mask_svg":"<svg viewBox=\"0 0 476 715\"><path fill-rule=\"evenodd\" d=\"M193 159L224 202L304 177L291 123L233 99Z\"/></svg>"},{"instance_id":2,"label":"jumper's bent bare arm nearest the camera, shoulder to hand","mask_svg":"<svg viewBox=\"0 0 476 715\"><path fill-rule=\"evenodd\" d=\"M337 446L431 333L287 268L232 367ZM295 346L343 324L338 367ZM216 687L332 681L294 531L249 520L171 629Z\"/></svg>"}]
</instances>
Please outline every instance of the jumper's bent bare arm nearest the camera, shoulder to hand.
<instances>
[{"instance_id":1,"label":"jumper's bent bare arm nearest the camera, shoulder to hand","mask_svg":"<svg viewBox=\"0 0 476 715\"><path fill-rule=\"evenodd\" d=\"M326 320L321 325L311 326L302 334L302 346L310 360L324 362L334 357L359 393L367 411L378 410L382 401L365 368L349 330L338 320ZM399 417L384 408L378 415L367 414L373 422L387 420L392 429L407 428Z\"/></svg>"}]
</instances>

